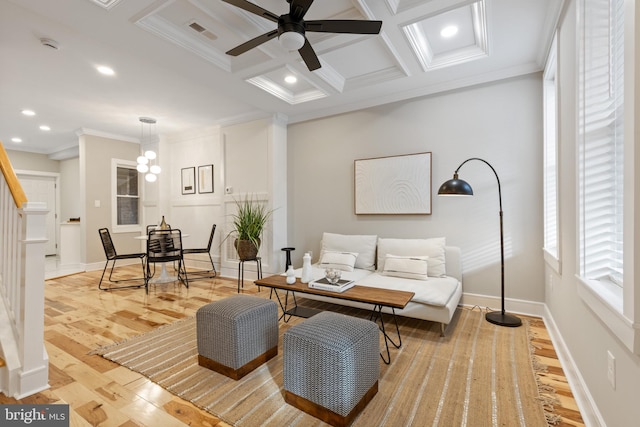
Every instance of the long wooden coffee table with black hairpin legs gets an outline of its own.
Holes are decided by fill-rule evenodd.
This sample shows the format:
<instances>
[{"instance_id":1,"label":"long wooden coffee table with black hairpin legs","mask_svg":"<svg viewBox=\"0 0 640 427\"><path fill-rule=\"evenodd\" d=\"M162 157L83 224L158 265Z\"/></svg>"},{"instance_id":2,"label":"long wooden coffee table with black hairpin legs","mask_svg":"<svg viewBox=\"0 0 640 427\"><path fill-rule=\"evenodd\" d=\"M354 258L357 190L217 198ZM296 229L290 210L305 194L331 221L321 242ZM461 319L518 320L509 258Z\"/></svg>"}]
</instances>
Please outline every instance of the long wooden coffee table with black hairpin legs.
<instances>
[{"instance_id":1,"label":"long wooden coffee table with black hairpin legs","mask_svg":"<svg viewBox=\"0 0 640 427\"><path fill-rule=\"evenodd\" d=\"M384 335L384 344L386 347L387 357L380 353L380 357L384 363L389 364L391 362L391 355L389 353L389 342L393 344L395 348L402 346L402 338L400 337L400 328L398 328L398 319L396 318L396 308L402 309L411 301L411 298L415 295L413 292L397 291L395 289L383 289L383 288L370 288L368 286L354 286L347 289L344 292L331 292L323 291L320 289L310 288L307 284L300 282L299 278L296 278L296 283L287 284L286 276L274 275L258 279L254 282L257 286L264 286L270 288L273 293L276 294L280 308L282 308L282 316L280 317L284 322L288 322L291 316L297 317L311 317L314 314L319 313L321 310L316 310L309 307L300 307L296 301L296 293L301 294L313 294L322 295L325 297L331 297L336 299L344 299L350 301L356 301L364 304L371 304L371 316L369 320L378 322L380 320L380 331ZM285 291L284 301L280 297L278 291ZM293 306L289 305L289 293L293 298ZM398 335L398 342L394 342L393 339L387 334L384 325L384 318L382 317L382 308L387 307L391 309L391 315L393 316L393 322L396 326L396 334ZM288 317L287 317L288 316Z\"/></svg>"}]
</instances>

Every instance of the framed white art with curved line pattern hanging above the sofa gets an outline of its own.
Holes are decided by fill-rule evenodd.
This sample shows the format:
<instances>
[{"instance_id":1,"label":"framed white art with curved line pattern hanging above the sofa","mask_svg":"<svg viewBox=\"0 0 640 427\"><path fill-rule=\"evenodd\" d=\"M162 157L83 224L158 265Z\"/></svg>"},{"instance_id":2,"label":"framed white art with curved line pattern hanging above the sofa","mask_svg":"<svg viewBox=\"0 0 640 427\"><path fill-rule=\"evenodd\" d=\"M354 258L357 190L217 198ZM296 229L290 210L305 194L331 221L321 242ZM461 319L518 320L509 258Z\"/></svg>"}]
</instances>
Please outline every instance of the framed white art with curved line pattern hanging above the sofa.
<instances>
[{"instance_id":1,"label":"framed white art with curved line pattern hanging above the sofa","mask_svg":"<svg viewBox=\"0 0 640 427\"><path fill-rule=\"evenodd\" d=\"M431 153L357 159L355 213L431 214Z\"/></svg>"}]
</instances>

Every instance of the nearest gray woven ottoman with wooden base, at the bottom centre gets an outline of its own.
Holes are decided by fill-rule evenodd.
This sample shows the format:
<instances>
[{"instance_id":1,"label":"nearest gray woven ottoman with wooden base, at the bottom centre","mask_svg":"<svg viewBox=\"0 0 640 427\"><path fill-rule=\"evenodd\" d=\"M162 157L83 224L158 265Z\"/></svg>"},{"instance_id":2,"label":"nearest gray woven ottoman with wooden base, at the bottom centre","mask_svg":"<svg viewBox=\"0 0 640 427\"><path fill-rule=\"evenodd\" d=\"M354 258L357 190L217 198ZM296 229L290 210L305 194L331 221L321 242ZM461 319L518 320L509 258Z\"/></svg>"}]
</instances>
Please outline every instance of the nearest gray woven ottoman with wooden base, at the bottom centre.
<instances>
[{"instance_id":1,"label":"nearest gray woven ottoman with wooden base, at the bottom centre","mask_svg":"<svg viewBox=\"0 0 640 427\"><path fill-rule=\"evenodd\" d=\"M347 426L378 392L378 326L329 311L283 335L285 401L333 426Z\"/></svg>"}]
</instances>

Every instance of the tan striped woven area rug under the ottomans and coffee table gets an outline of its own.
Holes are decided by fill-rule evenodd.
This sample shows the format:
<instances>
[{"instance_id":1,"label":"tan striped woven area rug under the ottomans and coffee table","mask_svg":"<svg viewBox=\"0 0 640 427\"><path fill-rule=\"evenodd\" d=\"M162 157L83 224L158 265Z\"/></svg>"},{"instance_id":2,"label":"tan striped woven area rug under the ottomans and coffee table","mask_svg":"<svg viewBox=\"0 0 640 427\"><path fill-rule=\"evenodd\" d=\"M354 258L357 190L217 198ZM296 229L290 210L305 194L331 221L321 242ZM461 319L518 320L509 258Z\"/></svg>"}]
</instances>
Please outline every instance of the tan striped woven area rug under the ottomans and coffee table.
<instances>
[{"instance_id":1,"label":"tan striped woven area rug under the ottomans and coffee table","mask_svg":"<svg viewBox=\"0 0 640 427\"><path fill-rule=\"evenodd\" d=\"M317 303L322 304L322 303ZM331 306L336 308L338 306ZM336 311L366 317L349 308ZM381 361L378 394L353 425L547 426L528 325L506 328L479 309L459 309L446 337L439 325L400 319L402 347ZM239 381L198 365L195 318L96 350L235 426L321 426L283 397L282 333L302 319L280 322L278 355ZM381 340L381 348L384 347Z\"/></svg>"}]
</instances>

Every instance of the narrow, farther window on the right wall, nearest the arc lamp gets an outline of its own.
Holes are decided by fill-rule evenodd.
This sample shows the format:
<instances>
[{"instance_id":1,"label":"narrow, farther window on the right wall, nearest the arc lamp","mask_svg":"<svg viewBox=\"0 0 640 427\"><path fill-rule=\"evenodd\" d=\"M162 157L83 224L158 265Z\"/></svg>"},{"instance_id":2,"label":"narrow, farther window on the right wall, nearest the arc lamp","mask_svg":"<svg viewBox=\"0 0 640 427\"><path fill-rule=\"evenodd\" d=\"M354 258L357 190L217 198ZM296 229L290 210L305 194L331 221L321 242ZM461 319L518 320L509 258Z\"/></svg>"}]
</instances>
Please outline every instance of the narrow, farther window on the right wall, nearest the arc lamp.
<instances>
[{"instance_id":1,"label":"narrow, farther window on the right wall, nearest the arc lamp","mask_svg":"<svg viewBox=\"0 0 640 427\"><path fill-rule=\"evenodd\" d=\"M553 38L543 76L544 105L544 251L547 263L560 272L558 230L557 42Z\"/></svg>"}]
</instances>

